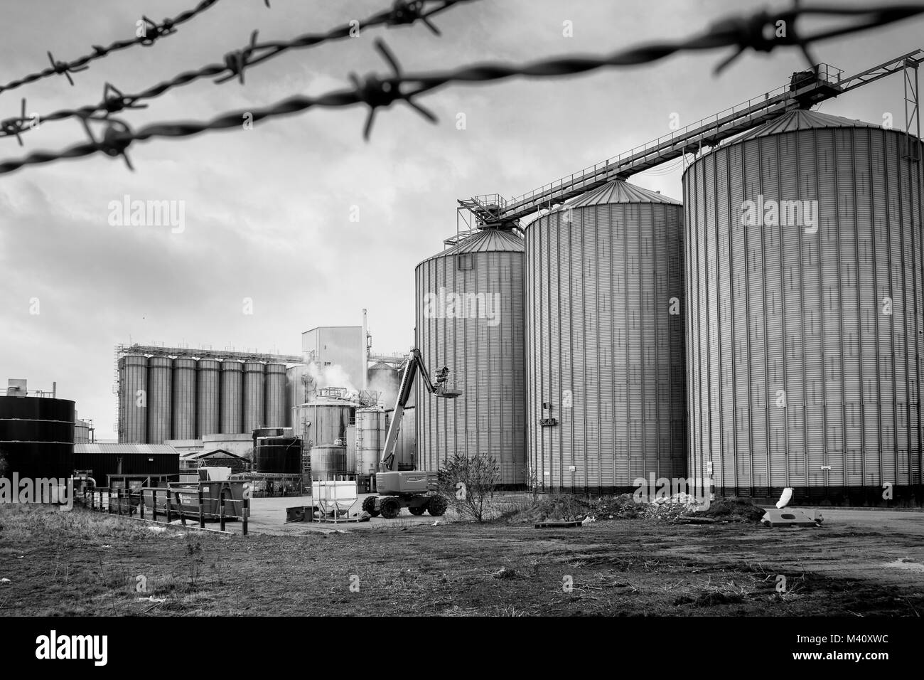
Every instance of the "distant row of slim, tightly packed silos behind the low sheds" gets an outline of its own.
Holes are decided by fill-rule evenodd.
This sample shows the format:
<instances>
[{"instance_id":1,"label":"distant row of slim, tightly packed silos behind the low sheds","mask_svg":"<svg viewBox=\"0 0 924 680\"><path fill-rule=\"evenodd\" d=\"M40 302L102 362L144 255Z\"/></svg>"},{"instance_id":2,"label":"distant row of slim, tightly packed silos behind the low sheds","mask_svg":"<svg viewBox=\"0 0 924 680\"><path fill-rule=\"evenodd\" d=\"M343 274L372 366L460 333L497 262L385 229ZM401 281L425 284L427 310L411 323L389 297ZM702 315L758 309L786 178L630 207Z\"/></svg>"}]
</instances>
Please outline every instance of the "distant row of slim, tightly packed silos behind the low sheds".
<instances>
[{"instance_id":1,"label":"distant row of slim, tightly packed silos behind the low sheds","mask_svg":"<svg viewBox=\"0 0 924 680\"><path fill-rule=\"evenodd\" d=\"M119 357L119 440L160 444L286 427L286 365Z\"/></svg>"}]
</instances>

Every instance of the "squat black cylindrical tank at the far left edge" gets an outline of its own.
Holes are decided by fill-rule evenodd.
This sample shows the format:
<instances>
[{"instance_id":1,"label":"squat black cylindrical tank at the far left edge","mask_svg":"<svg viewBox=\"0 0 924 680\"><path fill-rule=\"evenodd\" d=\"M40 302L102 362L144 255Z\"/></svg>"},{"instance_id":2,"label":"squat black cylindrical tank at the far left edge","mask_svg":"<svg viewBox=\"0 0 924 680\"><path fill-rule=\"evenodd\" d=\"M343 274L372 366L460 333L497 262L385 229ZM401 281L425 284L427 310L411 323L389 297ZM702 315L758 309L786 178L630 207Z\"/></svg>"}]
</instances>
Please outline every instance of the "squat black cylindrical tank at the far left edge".
<instances>
[{"instance_id":1,"label":"squat black cylindrical tank at the far left edge","mask_svg":"<svg viewBox=\"0 0 924 680\"><path fill-rule=\"evenodd\" d=\"M67 399L0 396L0 455L7 466L3 476L73 475L74 420L74 402Z\"/></svg>"}]
</instances>

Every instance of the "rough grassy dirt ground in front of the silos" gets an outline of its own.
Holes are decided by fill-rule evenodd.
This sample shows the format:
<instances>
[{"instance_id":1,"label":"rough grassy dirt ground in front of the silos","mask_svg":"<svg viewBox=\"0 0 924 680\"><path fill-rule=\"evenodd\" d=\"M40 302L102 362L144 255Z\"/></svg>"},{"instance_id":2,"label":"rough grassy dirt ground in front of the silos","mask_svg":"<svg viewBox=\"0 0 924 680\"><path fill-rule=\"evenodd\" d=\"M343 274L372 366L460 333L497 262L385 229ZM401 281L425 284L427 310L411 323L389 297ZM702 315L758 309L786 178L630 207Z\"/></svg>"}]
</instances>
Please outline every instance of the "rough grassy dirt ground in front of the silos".
<instances>
[{"instance_id":1,"label":"rough grassy dirt ground in front of the silos","mask_svg":"<svg viewBox=\"0 0 924 680\"><path fill-rule=\"evenodd\" d=\"M292 501L255 500L246 538L2 506L0 614L924 613L919 512L829 510L788 529L276 523Z\"/></svg>"}]
</instances>

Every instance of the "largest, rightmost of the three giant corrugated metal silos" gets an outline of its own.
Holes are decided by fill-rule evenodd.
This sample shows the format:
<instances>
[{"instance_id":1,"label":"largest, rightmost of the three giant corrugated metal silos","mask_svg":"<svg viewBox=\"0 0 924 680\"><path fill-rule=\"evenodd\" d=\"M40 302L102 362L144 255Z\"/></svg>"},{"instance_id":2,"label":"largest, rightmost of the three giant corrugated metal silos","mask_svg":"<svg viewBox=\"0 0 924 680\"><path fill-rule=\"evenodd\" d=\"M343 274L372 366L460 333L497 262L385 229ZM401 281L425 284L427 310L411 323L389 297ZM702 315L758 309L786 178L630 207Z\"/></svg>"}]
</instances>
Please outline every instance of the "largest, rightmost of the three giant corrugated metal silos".
<instances>
[{"instance_id":1,"label":"largest, rightmost of the three giant corrugated metal silos","mask_svg":"<svg viewBox=\"0 0 924 680\"><path fill-rule=\"evenodd\" d=\"M684 173L689 465L711 464L716 493L862 503L892 484L922 500L921 170L905 142L794 111Z\"/></svg>"}]
</instances>

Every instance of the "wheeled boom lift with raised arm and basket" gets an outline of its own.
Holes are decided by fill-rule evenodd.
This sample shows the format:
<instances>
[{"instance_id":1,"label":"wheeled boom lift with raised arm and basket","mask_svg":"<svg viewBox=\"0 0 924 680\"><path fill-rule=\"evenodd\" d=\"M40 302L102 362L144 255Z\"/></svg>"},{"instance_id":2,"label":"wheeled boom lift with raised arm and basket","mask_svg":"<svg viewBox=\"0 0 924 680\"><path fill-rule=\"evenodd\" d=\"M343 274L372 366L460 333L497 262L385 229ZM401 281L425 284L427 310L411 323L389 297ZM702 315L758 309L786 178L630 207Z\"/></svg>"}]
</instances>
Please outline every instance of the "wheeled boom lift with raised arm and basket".
<instances>
[{"instance_id":1,"label":"wheeled boom lift with raised arm and basket","mask_svg":"<svg viewBox=\"0 0 924 680\"><path fill-rule=\"evenodd\" d=\"M446 512L446 500L435 493L437 488L437 473L423 470L395 471L395 444L398 439L398 430L401 429L401 419L410 399L411 389L414 387L414 378L418 372L423 380L424 387L433 396L443 399L455 399L462 392L453 389L448 382L449 368L443 366L436 372L436 382L431 382L430 373L423 364L423 357L418 349L413 349L407 357L404 374L401 377L401 387L398 389L398 398L395 403L395 413L388 426L385 436L385 445L382 457L379 459L379 472L375 475L375 487L380 495L370 496L362 501L362 509L373 517L381 514L386 519L393 519L401 513L401 508L407 508L411 514L431 513L439 517Z\"/></svg>"}]
</instances>

